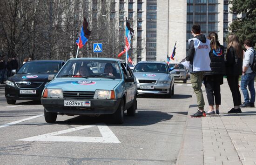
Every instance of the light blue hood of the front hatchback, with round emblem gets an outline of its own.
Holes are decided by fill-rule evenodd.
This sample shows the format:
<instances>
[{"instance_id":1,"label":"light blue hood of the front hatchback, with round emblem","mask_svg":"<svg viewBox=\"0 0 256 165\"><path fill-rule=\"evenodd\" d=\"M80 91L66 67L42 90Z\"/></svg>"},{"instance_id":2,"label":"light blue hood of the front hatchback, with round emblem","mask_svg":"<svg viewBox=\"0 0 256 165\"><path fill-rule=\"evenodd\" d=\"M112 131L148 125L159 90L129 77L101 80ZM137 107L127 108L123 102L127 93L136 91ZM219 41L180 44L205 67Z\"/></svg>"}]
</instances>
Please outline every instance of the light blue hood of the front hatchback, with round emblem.
<instances>
[{"instance_id":1,"label":"light blue hood of the front hatchback, with round emblem","mask_svg":"<svg viewBox=\"0 0 256 165\"><path fill-rule=\"evenodd\" d=\"M48 89L62 89L63 91L113 90L120 79L84 79L84 78L56 78L48 85Z\"/></svg>"}]
</instances>

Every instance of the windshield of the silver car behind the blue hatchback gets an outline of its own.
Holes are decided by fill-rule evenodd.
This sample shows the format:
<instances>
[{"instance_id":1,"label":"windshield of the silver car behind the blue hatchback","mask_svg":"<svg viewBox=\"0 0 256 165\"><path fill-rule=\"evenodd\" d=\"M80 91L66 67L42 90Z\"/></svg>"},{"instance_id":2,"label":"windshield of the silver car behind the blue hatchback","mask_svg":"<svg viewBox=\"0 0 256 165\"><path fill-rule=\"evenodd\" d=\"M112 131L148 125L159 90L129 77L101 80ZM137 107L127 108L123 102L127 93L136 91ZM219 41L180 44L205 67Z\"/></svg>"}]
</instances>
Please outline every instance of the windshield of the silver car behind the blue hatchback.
<instances>
[{"instance_id":1,"label":"windshield of the silver car behind the blue hatchback","mask_svg":"<svg viewBox=\"0 0 256 165\"><path fill-rule=\"evenodd\" d=\"M167 65L160 63L138 63L133 72L169 73Z\"/></svg>"}]
</instances>

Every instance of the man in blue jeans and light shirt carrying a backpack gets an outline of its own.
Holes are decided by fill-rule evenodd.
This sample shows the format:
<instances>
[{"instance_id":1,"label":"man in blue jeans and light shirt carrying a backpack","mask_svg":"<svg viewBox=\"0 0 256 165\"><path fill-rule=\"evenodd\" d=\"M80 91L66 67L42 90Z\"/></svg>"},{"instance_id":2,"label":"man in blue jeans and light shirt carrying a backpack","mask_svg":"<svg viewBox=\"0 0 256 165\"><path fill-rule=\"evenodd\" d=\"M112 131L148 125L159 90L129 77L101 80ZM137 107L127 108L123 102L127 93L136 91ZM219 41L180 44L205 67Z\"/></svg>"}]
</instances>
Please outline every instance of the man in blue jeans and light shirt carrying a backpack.
<instances>
[{"instance_id":1,"label":"man in blue jeans and light shirt carrying a backpack","mask_svg":"<svg viewBox=\"0 0 256 165\"><path fill-rule=\"evenodd\" d=\"M243 56L243 75L241 79L241 90L243 92L244 103L241 107L254 107L255 102L255 89L254 89L254 79L256 73L253 71L253 66L255 61L255 50L253 49L252 41L247 39L244 41L244 47L246 48L246 52ZM250 91L247 90L247 86Z\"/></svg>"}]
</instances>

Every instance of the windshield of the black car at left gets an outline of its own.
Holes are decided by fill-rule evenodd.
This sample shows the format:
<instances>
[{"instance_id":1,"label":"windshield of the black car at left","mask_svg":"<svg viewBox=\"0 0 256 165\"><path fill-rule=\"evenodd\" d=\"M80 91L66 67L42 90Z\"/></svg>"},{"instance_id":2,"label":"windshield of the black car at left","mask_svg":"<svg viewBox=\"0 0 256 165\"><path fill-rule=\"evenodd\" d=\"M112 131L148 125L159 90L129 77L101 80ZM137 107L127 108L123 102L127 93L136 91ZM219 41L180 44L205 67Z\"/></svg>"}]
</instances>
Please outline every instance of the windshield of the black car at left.
<instances>
[{"instance_id":1,"label":"windshield of the black car at left","mask_svg":"<svg viewBox=\"0 0 256 165\"><path fill-rule=\"evenodd\" d=\"M58 73L60 70L60 63L53 61L34 61L34 62L26 62L23 66L20 67L17 73Z\"/></svg>"}]
</instances>

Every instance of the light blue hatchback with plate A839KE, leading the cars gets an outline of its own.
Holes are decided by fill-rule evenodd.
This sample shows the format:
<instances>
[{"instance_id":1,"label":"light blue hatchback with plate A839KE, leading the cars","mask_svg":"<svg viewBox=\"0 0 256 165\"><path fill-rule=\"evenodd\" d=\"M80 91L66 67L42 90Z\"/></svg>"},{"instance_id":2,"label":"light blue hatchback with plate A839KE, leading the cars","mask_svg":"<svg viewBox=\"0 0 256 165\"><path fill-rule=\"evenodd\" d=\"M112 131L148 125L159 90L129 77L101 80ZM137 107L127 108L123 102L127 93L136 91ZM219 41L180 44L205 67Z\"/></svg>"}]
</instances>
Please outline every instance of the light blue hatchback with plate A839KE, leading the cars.
<instances>
[{"instance_id":1,"label":"light blue hatchback with plate A839KE, leading the cars","mask_svg":"<svg viewBox=\"0 0 256 165\"><path fill-rule=\"evenodd\" d=\"M55 122L57 114L106 114L117 124L123 122L125 110L128 116L135 116L137 82L120 59L69 59L56 77L50 75L49 79L53 80L41 98L47 123Z\"/></svg>"}]
</instances>

